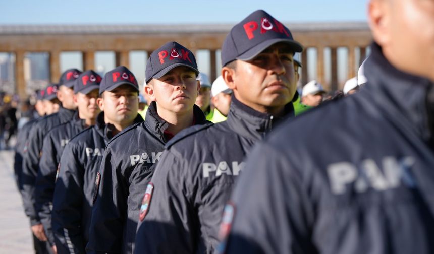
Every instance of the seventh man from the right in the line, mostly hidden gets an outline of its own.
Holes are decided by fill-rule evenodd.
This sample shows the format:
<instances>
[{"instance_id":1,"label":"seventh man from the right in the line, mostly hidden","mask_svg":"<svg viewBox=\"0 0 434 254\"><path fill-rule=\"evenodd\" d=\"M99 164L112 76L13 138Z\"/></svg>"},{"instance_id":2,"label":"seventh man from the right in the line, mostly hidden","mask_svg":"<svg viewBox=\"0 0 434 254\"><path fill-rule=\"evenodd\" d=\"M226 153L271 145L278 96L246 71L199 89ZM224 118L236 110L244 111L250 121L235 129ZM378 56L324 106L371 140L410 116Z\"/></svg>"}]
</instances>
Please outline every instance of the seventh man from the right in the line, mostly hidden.
<instances>
[{"instance_id":1,"label":"seventh man from the right in the line, mostly hidden","mask_svg":"<svg viewBox=\"0 0 434 254\"><path fill-rule=\"evenodd\" d=\"M54 86L56 86L56 89L53 89L53 85L49 84L45 89L42 89L42 90L37 92L35 109L36 109L39 117L34 118L34 119L28 121L26 124L24 124L17 135L17 143L15 145L15 156L14 156L14 172L15 172L15 177L17 180L17 186L18 186L18 189L20 190L20 194L23 191L21 184L20 184L21 175L22 175L22 166L23 166L23 155L27 151L29 133L30 133L30 130L32 129L33 124L35 122L37 122L37 120L40 119L40 117L45 115L45 109L44 109L44 102L43 101L45 99L50 99L50 100L55 99L55 98L57 99L56 93L52 92L53 90L57 90L57 85L54 85ZM51 87L51 89L49 89L51 94L48 95L48 97L46 97L44 95L46 94L48 87ZM36 253L44 253L44 249L46 249L45 242L40 241L38 238L36 238L35 235L33 235L33 246L34 246L34 250Z\"/></svg>"}]
</instances>

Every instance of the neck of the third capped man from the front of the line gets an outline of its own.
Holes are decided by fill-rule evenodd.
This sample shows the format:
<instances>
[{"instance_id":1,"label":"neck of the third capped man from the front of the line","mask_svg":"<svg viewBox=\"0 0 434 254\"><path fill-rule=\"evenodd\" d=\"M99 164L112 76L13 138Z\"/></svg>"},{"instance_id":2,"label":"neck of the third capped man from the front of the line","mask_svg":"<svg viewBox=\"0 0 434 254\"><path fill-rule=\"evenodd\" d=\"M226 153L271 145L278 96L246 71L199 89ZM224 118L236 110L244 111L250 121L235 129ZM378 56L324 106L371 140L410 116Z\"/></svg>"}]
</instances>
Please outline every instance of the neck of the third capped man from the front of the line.
<instances>
[{"instance_id":1,"label":"neck of the third capped man from the front of the line","mask_svg":"<svg viewBox=\"0 0 434 254\"><path fill-rule=\"evenodd\" d=\"M173 112L157 106L158 116L169 123L166 131L176 135L193 124L193 108L184 112Z\"/></svg>"}]
</instances>

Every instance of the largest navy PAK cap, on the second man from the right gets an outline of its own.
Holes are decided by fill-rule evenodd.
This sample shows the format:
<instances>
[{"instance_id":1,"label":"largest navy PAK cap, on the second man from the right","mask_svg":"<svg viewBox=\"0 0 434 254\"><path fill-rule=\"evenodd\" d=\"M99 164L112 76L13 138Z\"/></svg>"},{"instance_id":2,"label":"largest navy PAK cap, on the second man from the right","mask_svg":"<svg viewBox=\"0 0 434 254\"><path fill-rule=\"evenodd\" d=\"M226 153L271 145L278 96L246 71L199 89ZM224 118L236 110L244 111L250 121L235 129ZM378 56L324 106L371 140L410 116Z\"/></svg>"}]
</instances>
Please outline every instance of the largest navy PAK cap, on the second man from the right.
<instances>
[{"instance_id":1,"label":"largest navy PAK cap, on the second man from the right","mask_svg":"<svg viewBox=\"0 0 434 254\"><path fill-rule=\"evenodd\" d=\"M267 12L257 10L236 24L226 36L222 46L222 65L236 59L250 60L278 42L287 43L294 52L303 51L303 46L293 39L285 25Z\"/></svg>"}]
</instances>

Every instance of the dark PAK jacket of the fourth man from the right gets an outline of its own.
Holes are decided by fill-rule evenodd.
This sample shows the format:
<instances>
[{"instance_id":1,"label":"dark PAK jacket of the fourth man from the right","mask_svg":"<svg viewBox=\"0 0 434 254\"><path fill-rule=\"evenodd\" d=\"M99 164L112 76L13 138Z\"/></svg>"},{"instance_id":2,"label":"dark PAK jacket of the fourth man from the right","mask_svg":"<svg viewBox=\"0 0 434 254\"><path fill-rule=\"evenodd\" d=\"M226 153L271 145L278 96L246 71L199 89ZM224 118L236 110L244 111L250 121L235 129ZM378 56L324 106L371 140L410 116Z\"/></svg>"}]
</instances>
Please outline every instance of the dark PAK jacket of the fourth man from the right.
<instances>
[{"instance_id":1,"label":"dark PAK jacket of the fourth man from the right","mask_svg":"<svg viewBox=\"0 0 434 254\"><path fill-rule=\"evenodd\" d=\"M135 122L143 119L137 116ZM105 146L113 137L104 113L96 124L70 140L62 154L53 196L52 229L59 254L85 253L89 239L96 174Z\"/></svg>"}]
</instances>

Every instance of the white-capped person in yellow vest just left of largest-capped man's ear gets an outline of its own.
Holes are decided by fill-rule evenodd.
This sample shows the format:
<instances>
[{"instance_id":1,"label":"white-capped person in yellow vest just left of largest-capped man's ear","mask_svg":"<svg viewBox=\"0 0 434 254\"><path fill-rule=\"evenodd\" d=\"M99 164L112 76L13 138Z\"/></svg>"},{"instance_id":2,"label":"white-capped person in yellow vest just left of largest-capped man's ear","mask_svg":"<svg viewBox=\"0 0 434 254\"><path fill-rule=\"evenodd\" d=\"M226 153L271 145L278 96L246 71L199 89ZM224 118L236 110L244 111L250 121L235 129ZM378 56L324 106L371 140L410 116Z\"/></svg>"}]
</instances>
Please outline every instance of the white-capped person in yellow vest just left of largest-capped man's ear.
<instances>
[{"instance_id":1,"label":"white-capped person in yellow vest just left of largest-capped man's ear","mask_svg":"<svg viewBox=\"0 0 434 254\"><path fill-rule=\"evenodd\" d=\"M213 108L211 112L206 116L208 121L213 123L226 120L231 106L232 90L226 85L222 75L212 82L211 86L211 102Z\"/></svg>"}]
</instances>

